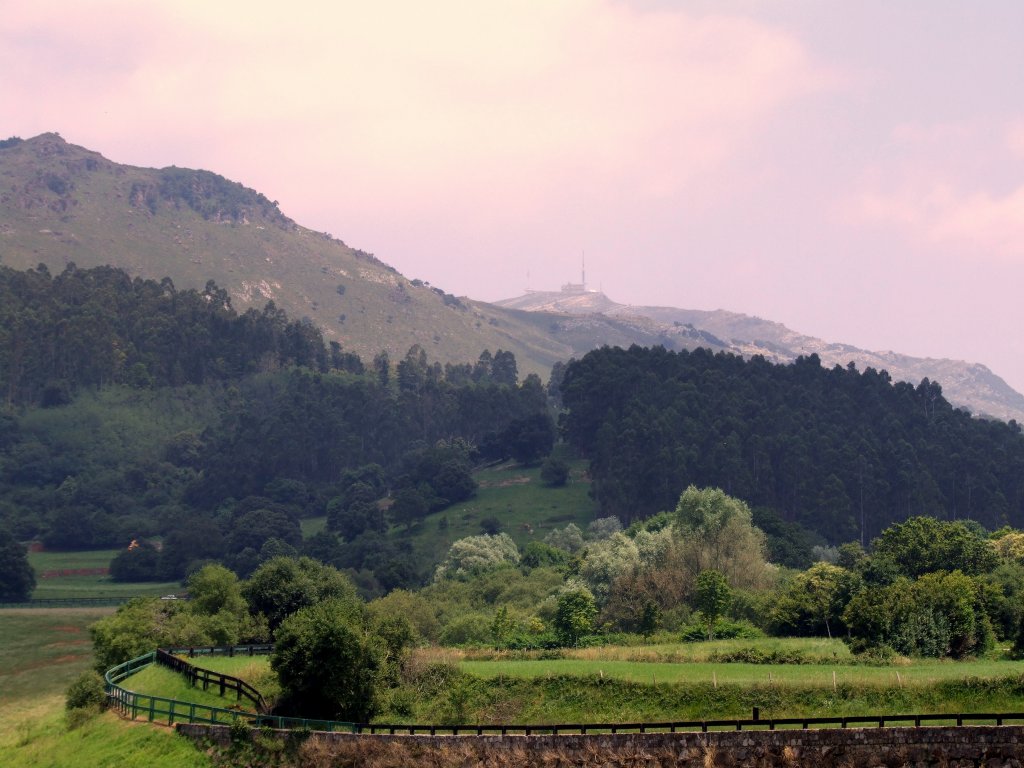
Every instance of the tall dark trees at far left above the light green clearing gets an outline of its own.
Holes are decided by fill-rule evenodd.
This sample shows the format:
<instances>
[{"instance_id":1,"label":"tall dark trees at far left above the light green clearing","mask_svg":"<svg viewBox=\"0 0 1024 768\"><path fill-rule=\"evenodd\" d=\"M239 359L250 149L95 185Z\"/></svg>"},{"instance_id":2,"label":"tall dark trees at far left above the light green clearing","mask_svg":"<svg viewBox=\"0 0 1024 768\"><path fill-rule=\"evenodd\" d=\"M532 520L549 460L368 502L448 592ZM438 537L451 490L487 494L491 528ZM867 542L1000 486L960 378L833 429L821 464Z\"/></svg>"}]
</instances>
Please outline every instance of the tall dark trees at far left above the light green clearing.
<instances>
[{"instance_id":1,"label":"tall dark trees at far left above the light green clearing","mask_svg":"<svg viewBox=\"0 0 1024 768\"><path fill-rule=\"evenodd\" d=\"M287 365L327 370L314 327L272 303L238 314L223 289L177 291L113 267L18 272L0 267L0 393L66 404L82 387L224 381Z\"/></svg>"}]
</instances>

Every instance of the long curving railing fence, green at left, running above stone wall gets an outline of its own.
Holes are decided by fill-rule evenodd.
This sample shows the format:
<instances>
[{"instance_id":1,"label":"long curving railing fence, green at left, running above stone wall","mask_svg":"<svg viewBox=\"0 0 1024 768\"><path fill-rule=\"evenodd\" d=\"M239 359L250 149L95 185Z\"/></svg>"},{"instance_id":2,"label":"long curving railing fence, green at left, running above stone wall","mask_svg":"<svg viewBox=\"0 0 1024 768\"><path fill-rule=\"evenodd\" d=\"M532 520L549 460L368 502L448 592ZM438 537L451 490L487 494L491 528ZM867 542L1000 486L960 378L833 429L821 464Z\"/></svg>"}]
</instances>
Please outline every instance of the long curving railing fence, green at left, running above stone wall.
<instances>
[{"instance_id":1,"label":"long curving railing fence, green at left, running above stone wall","mask_svg":"<svg viewBox=\"0 0 1024 768\"><path fill-rule=\"evenodd\" d=\"M335 720L318 720L309 718L289 718L278 715L253 713L242 709L216 708L206 705L179 701L162 696L153 696L128 690L119 683L141 669L152 664L158 664L161 654L191 653L193 655L257 655L267 653L272 645L243 646L212 646L204 648L170 648L154 650L130 662L118 665L108 670L106 695L111 706L125 717L132 720L142 716L150 722L167 718L169 725L174 723L199 723L208 725L232 725L239 721L253 727L271 727L278 729L310 729L321 731L346 731L365 734L422 734L422 735L559 735L559 734L599 734L599 733L676 733L700 731L707 733L714 730L783 730L811 728L892 728L892 727L926 727L928 725L1024 725L1024 713L956 713L956 714L915 714L915 715L868 715L856 717L825 717L825 718L761 718L759 710L754 710L750 719L726 720L680 720L659 723L559 723L550 725L409 725L382 723L350 723ZM171 656L175 658L175 656ZM186 662L176 658L180 664L191 667ZM193 667L193 669L199 669ZM209 672L204 670L204 672ZM210 673L219 675L219 673ZM229 677L229 676L226 676ZM238 678L236 678L238 679ZM248 684L246 684L248 685ZM252 686L249 686L252 688ZM234 690L233 688L230 688ZM252 690L256 690L252 688ZM240 694L241 695L241 694ZM258 691L257 691L258 695ZM262 699L262 696L260 696Z\"/></svg>"}]
</instances>

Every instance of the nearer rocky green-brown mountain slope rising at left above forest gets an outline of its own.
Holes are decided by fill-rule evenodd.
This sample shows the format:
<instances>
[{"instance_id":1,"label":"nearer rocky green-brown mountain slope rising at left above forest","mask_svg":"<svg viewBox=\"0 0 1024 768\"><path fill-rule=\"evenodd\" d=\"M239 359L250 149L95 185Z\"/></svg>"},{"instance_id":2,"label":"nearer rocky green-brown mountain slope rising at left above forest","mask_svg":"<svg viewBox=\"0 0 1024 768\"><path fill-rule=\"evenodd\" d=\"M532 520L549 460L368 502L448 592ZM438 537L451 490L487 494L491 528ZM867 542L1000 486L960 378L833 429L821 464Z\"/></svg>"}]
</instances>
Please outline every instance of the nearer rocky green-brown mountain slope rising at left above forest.
<instances>
[{"instance_id":1,"label":"nearer rocky green-brown mountain slope rising at left above forest","mask_svg":"<svg viewBox=\"0 0 1024 768\"><path fill-rule=\"evenodd\" d=\"M372 254L306 229L275 202L209 171L135 168L55 133L0 141L0 263L60 271L104 264L178 288L213 280L238 309L272 300L367 362L414 344L431 360L515 353L547 375L573 350L548 321L457 298Z\"/></svg>"}]
</instances>

